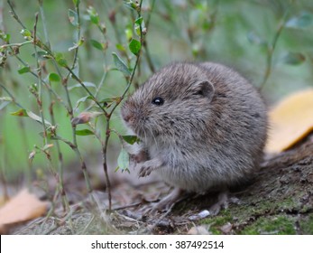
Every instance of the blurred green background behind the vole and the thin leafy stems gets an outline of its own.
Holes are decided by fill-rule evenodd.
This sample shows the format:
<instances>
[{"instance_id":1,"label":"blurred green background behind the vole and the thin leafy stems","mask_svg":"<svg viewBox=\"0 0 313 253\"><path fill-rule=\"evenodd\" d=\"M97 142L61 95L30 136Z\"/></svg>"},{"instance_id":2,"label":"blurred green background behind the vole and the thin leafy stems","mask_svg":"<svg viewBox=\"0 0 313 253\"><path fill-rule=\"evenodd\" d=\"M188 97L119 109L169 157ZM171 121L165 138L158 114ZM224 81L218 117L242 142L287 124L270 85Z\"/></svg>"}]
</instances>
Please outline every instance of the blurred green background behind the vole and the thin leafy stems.
<instances>
[{"instance_id":1,"label":"blurred green background behind the vole and the thin leafy stems","mask_svg":"<svg viewBox=\"0 0 313 253\"><path fill-rule=\"evenodd\" d=\"M35 13L40 12L38 1L15 0L13 3L23 24L32 30ZM153 9L152 3L152 0L143 0L144 22L149 23L145 37L148 51L146 48L143 51L140 68L135 75L135 84L142 83L152 74L150 65L158 70L171 61L216 61L239 70L256 87L261 86L266 70L270 69L271 75L262 89L262 94L270 106L296 90L312 87L313 1L156 0ZM106 36L99 33L97 26L90 22L87 12L89 6L95 8L101 23L106 26ZM1 2L0 9L0 29L11 35L10 42L23 42L20 33L22 27L11 16L6 1ZM69 9L74 9L72 1L43 1L51 49L53 52L64 53L70 61L73 52L69 52L69 48L76 41L76 29L69 22ZM124 1L115 0L81 1L79 10L81 35L84 37L84 43L78 51L79 77L97 86L106 73L99 97L120 96L126 84L123 74L116 70L107 70L114 67L112 52L118 52L124 61L130 64L129 67L133 66L134 58L130 57L127 49L127 36L134 33L135 13L124 5ZM44 41L41 18L38 33ZM92 40L107 43L107 49L100 52L93 46ZM121 46L124 46L125 53L121 51ZM32 44L25 45L20 48L19 57L35 68L33 52ZM148 53L150 58L146 57ZM150 65L149 59L152 61ZM269 62L272 65L269 65ZM46 64L47 73L55 72L51 63ZM21 67L19 61L8 56L0 69L0 82L24 108L38 114L35 98L29 92L29 87L38 80L30 73L19 74ZM69 83L75 85L77 81L70 80ZM52 88L65 98L60 83L55 83ZM87 96L83 89L72 89L70 95L74 106L79 98ZM7 96L5 90L0 87L0 98ZM46 100L43 101L43 107L48 110L49 103ZM42 145L39 135L42 131L41 125L27 117L10 115L18 108L14 103L4 107L4 103L0 101L2 176L5 176L6 180L21 179L28 169L32 172L45 170L47 161L44 155L36 155L32 164L29 164L28 159L33 146ZM84 108L87 108L87 105L80 105L75 115ZM55 105L55 114L58 133L70 139L69 117L59 103ZM112 127L123 133L124 128L121 125L117 110ZM115 146L116 141L117 138L113 135L110 146ZM65 164L69 167L77 158L68 145L60 145ZM88 157L91 166L100 163L100 159L90 158L98 157L97 154L100 153L100 145L95 137L78 136L78 147L84 157ZM114 156L112 159L115 158Z\"/></svg>"}]
</instances>

